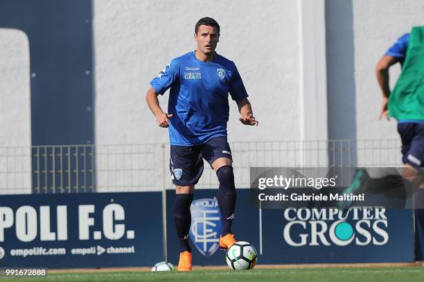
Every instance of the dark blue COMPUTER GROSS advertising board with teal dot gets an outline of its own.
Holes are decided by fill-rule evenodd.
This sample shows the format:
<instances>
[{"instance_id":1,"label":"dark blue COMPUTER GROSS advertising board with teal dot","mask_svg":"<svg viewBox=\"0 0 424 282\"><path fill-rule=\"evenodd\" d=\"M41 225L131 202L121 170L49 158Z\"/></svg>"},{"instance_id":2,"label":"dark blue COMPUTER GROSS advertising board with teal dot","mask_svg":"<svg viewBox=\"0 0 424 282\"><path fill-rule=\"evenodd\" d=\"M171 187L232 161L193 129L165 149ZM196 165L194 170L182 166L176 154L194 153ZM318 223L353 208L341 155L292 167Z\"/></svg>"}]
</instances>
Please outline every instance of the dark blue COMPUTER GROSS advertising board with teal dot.
<instances>
[{"instance_id":1,"label":"dark blue COMPUTER GROSS advertising board with teal dot","mask_svg":"<svg viewBox=\"0 0 424 282\"><path fill-rule=\"evenodd\" d=\"M414 211L264 209L261 263L414 261Z\"/></svg>"}]
</instances>

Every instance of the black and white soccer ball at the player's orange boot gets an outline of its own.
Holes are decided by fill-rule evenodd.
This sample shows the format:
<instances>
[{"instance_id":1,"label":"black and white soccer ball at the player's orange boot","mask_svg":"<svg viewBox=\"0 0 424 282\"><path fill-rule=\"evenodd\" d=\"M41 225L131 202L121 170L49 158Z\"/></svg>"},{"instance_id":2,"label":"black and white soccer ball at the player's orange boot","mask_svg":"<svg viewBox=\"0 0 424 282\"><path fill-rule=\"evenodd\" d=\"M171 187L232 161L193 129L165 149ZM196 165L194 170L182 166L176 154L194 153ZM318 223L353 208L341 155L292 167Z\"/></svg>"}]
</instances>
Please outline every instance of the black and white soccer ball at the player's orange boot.
<instances>
[{"instance_id":1,"label":"black and white soccer ball at the player's orange boot","mask_svg":"<svg viewBox=\"0 0 424 282\"><path fill-rule=\"evenodd\" d=\"M251 270L256 265L258 253L253 245L240 241L228 249L226 259L232 270Z\"/></svg>"}]
</instances>

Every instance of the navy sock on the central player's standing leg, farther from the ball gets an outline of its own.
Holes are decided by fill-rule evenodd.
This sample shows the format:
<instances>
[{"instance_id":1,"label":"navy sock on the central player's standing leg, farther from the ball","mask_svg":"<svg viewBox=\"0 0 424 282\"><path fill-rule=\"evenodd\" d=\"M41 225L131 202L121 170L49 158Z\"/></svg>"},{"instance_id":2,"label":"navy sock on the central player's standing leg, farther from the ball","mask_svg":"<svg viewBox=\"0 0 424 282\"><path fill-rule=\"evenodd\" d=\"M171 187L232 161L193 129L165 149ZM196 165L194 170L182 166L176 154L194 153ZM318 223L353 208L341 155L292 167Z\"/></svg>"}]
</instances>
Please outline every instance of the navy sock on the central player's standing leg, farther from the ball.
<instances>
[{"instance_id":1,"label":"navy sock on the central player's standing leg, farther from the ball","mask_svg":"<svg viewBox=\"0 0 424 282\"><path fill-rule=\"evenodd\" d=\"M188 243L188 232L190 232L191 212L190 205L193 201L193 194L176 194L174 206L174 221L179 239L179 252L191 252Z\"/></svg>"}]
</instances>

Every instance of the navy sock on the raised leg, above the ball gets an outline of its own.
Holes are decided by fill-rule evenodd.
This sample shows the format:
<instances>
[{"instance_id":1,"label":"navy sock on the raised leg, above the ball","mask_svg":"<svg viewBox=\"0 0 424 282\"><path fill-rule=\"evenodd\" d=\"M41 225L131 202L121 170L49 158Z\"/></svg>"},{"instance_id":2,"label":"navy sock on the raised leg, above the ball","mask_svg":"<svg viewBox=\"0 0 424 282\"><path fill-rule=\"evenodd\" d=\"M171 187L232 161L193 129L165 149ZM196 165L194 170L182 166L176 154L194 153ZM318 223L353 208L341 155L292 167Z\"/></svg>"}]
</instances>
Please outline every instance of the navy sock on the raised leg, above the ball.
<instances>
[{"instance_id":1,"label":"navy sock on the raised leg, above the ball","mask_svg":"<svg viewBox=\"0 0 424 282\"><path fill-rule=\"evenodd\" d=\"M221 236L231 233L231 224L236 208L236 185L234 185L233 167L224 165L216 171L220 187L218 189L218 207L221 211L222 231Z\"/></svg>"}]
</instances>

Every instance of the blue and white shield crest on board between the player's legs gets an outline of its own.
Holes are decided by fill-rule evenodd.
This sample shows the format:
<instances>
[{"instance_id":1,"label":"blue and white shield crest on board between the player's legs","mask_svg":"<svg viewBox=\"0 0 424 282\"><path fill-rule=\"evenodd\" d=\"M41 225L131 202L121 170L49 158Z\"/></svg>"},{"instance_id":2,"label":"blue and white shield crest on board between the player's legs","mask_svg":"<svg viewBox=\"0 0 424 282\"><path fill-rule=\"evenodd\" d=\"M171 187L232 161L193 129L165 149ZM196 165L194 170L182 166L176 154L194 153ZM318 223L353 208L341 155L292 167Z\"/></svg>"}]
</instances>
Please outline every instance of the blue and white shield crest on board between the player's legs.
<instances>
[{"instance_id":1,"label":"blue and white shield crest on board between the player's legs","mask_svg":"<svg viewBox=\"0 0 424 282\"><path fill-rule=\"evenodd\" d=\"M216 198L193 200L191 203L190 238L204 256L218 250L221 234L221 213Z\"/></svg>"}]
</instances>

